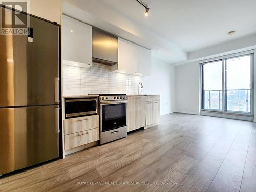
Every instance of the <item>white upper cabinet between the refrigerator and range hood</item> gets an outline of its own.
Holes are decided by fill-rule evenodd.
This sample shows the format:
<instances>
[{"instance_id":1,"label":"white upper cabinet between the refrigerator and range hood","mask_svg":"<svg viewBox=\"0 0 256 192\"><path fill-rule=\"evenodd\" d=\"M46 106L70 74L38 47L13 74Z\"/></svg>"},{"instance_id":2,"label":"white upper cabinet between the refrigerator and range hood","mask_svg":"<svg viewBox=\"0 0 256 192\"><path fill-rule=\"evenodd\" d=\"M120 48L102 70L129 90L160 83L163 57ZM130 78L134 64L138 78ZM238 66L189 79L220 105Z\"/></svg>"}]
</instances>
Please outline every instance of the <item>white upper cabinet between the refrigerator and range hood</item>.
<instances>
[{"instance_id":1,"label":"white upper cabinet between the refrigerator and range hood","mask_svg":"<svg viewBox=\"0 0 256 192\"><path fill-rule=\"evenodd\" d=\"M63 65L92 66L92 27L62 15Z\"/></svg>"}]
</instances>

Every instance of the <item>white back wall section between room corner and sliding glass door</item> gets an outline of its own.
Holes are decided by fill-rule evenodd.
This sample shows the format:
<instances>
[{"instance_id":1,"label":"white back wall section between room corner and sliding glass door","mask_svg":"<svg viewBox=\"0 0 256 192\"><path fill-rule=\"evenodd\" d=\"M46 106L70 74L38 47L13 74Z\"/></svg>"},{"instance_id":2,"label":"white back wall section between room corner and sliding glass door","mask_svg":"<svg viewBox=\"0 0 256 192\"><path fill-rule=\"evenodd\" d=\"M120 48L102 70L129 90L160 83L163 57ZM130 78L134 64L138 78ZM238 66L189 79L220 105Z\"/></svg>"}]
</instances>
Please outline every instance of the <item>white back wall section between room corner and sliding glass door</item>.
<instances>
[{"instance_id":1,"label":"white back wall section between room corner and sliding glass door","mask_svg":"<svg viewBox=\"0 0 256 192\"><path fill-rule=\"evenodd\" d=\"M175 66L176 111L200 114L200 86L198 62Z\"/></svg>"}]
</instances>

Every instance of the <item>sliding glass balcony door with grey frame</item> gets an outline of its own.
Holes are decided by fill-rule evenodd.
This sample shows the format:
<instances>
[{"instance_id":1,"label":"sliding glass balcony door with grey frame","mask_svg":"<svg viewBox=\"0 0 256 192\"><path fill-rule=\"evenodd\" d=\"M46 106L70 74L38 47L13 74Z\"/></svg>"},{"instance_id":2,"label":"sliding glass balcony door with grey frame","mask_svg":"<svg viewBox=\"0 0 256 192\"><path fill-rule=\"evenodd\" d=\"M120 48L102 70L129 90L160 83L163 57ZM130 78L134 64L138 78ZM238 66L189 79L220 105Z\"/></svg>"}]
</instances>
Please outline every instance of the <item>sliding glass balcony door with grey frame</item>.
<instances>
[{"instance_id":1,"label":"sliding glass balcony door with grey frame","mask_svg":"<svg viewBox=\"0 0 256 192\"><path fill-rule=\"evenodd\" d=\"M202 110L252 114L253 54L201 65Z\"/></svg>"}]
</instances>

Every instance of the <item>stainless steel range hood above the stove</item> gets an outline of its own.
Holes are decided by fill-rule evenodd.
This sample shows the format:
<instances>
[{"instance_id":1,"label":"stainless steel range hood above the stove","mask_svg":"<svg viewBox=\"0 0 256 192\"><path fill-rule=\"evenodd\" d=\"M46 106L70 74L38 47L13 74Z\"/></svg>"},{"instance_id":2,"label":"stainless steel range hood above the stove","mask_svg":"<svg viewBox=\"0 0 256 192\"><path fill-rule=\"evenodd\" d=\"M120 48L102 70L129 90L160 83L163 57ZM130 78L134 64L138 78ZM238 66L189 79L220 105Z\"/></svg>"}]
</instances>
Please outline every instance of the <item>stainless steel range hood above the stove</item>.
<instances>
[{"instance_id":1,"label":"stainless steel range hood above the stove","mask_svg":"<svg viewBox=\"0 0 256 192\"><path fill-rule=\"evenodd\" d=\"M93 62L114 65L118 62L118 40L101 29L93 27Z\"/></svg>"}]
</instances>

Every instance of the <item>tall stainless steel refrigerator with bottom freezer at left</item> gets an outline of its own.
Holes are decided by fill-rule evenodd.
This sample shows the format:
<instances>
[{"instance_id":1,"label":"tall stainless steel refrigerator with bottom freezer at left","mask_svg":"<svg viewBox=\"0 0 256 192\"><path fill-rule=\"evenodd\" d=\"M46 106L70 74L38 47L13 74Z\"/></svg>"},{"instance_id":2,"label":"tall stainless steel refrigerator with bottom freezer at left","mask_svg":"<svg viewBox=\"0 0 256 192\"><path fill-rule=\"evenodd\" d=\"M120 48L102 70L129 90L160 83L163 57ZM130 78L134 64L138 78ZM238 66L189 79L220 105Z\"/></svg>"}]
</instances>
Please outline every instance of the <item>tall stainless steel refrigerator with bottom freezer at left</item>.
<instances>
[{"instance_id":1,"label":"tall stainless steel refrigerator with bottom freezer at left","mask_svg":"<svg viewBox=\"0 0 256 192\"><path fill-rule=\"evenodd\" d=\"M30 28L33 42L0 35L0 175L59 157L60 26Z\"/></svg>"}]
</instances>

